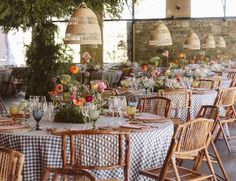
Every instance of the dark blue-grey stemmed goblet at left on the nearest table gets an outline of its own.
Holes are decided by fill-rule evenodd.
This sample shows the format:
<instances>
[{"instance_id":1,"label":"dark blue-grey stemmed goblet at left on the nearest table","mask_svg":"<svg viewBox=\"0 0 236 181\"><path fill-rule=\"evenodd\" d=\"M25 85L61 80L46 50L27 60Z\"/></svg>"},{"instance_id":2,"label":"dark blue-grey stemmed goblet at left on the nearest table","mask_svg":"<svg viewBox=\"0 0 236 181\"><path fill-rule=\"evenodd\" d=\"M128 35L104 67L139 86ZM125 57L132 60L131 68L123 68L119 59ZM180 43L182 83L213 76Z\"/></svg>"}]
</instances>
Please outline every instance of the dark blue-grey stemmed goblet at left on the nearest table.
<instances>
[{"instance_id":1,"label":"dark blue-grey stemmed goblet at left on the nearest table","mask_svg":"<svg viewBox=\"0 0 236 181\"><path fill-rule=\"evenodd\" d=\"M39 127L39 121L42 119L43 114L44 114L44 104L40 102L34 102L32 108L33 108L32 109L33 117L36 121L35 130L41 130L41 128Z\"/></svg>"}]
</instances>

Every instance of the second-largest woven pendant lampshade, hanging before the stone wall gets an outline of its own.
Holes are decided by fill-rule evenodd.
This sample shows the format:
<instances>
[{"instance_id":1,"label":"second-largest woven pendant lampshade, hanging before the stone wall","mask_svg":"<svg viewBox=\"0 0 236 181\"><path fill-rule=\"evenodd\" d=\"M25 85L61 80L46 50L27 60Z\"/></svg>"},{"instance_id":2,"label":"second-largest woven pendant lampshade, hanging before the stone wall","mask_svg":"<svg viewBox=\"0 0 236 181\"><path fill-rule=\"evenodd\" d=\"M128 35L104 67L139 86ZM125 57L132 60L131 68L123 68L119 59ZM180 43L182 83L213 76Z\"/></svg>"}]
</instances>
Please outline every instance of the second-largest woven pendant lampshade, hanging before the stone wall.
<instances>
[{"instance_id":1,"label":"second-largest woven pendant lampshade, hanging before the stone wall","mask_svg":"<svg viewBox=\"0 0 236 181\"><path fill-rule=\"evenodd\" d=\"M171 34L162 21L158 21L150 34L149 45L154 46L169 46L173 45Z\"/></svg>"}]
</instances>

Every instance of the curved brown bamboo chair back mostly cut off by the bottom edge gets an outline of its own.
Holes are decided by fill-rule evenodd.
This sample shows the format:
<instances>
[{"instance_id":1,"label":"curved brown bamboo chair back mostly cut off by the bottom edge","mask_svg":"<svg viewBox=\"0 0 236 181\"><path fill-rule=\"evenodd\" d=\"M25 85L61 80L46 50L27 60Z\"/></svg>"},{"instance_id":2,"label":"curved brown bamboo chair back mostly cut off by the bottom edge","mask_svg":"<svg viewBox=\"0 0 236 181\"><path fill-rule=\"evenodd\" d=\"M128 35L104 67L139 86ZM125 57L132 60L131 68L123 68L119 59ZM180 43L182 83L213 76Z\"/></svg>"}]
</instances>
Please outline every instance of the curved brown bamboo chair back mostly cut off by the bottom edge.
<instances>
[{"instance_id":1,"label":"curved brown bamboo chair back mostly cut off by the bottom edge","mask_svg":"<svg viewBox=\"0 0 236 181\"><path fill-rule=\"evenodd\" d=\"M51 178L50 178L51 176ZM41 181L96 181L96 178L85 170L46 168Z\"/></svg>"}]
</instances>

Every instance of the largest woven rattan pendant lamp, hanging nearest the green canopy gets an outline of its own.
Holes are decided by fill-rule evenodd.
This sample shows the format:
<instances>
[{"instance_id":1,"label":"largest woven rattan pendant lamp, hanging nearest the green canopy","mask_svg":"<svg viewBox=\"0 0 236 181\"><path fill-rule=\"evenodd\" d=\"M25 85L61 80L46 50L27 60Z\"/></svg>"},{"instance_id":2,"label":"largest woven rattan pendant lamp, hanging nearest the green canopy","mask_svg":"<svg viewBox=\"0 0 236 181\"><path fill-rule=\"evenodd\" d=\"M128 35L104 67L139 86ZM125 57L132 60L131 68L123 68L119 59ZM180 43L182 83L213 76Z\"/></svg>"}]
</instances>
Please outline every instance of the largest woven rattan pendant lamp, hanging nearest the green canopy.
<instances>
[{"instance_id":1,"label":"largest woven rattan pendant lamp, hanging nearest the green canopy","mask_svg":"<svg viewBox=\"0 0 236 181\"><path fill-rule=\"evenodd\" d=\"M102 44L97 16L83 2L71 15L66 28L65 44Z\"/></svg>"}]
</instances>

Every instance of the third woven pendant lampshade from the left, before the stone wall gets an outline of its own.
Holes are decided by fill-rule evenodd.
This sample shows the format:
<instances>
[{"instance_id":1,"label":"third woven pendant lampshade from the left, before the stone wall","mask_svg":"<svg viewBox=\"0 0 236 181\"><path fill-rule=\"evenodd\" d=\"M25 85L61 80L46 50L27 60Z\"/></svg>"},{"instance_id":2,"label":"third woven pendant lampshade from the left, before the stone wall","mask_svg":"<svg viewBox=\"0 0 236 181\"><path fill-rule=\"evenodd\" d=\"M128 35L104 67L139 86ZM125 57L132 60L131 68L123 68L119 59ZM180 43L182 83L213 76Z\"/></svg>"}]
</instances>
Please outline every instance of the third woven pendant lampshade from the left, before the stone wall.
<instances>
[{"instance_id":1,"label":"third woven pendant lampshade from the left, before the stone wall","mask_svg":"<svg viewBox=\"0 0 236 181\"><path fill-rule=\"evenodd\" d=\"M187 35L183 47L189 50L200 50L200 40L193 30Z\"/></svg>"}]
</instances>

